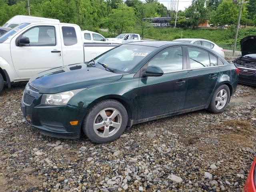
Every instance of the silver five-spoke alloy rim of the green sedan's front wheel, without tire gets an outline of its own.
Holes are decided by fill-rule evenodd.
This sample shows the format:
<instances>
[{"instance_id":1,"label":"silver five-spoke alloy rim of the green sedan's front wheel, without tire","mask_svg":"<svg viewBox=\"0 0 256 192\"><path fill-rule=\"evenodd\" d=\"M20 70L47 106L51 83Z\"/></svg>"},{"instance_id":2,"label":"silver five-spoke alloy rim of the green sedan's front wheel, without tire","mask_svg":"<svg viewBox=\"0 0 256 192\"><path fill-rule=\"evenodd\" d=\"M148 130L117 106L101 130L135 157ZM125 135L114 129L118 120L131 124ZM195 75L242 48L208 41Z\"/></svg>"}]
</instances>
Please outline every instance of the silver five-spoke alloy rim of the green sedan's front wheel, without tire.
<instances>
[{"instance_id":1,"label":"silver five-spoke alloy rim of the green sedan's front wheel, without tire","mask_svg":"<svg viewBox=\"0 0 256 192\"><path fill-rule=\"evenodd\" d=\"M106 108L96 115L93 122L93 129L98 136L106 138L116 134L121 124L121 113L115 108Z\"/></svg>"}]
</instances>

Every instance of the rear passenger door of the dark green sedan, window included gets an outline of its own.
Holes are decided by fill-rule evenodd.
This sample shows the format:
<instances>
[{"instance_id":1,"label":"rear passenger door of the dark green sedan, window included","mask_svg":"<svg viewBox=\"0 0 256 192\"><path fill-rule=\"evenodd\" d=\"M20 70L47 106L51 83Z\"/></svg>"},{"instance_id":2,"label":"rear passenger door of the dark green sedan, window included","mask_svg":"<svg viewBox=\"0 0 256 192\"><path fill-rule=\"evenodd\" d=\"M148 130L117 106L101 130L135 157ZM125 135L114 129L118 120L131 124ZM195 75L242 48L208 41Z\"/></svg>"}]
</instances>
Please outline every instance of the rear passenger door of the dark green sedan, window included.
<instances>
[{"instance_id":1,"label":"rear passenger door of the dark green sedan, window included","mask_svg":"<svg viewBox=\"0 0 256 192\"><path fill-rule=\"evenodd\" d=\"M219 76L218 59L213 54L201 48L188 47L188 57L185 109L205 106Z\"/></svg>"}]
</instances>

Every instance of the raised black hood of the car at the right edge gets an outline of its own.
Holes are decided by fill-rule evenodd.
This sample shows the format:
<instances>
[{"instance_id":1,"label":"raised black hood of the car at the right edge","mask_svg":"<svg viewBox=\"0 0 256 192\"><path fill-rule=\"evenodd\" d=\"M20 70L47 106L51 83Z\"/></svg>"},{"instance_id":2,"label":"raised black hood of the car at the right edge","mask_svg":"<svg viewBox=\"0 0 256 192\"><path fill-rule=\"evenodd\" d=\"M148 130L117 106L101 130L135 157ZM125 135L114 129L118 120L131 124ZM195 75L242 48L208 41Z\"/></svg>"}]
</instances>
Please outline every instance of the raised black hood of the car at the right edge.
<instances>
[{"instance_id":1,"label":"raised black hood of the car at the right edge","mask_svg":"<svg viewBox=\"0 0 256 192\"><path fill-rule=\"evenodd\" d=\"M247 36L240 41L242 56L256 54L256 36Z\"/></svg>"}]
</instances>

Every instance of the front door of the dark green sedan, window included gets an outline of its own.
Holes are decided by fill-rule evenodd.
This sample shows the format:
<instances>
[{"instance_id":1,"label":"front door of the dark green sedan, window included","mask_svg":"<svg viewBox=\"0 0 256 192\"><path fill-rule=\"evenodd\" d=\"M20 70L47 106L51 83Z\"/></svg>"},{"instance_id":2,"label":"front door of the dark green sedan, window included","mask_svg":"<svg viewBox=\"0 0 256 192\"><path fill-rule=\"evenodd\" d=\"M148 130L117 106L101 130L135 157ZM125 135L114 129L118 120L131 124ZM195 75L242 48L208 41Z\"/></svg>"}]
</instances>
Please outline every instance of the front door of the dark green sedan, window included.
<instances>
[{"instance_id":1,"label":"front door of the dark green sedan, window included","mask_svg":"<svg viewBox=\"0 0 256 192\"><path fill-rule=\"evenodd\" d=\"M164 75L140 77L138 120L170 114L183 109L187 86L184 55L185 50L181 46L171 47L158 53L146 64L160 67L164 71Z\"/></svg>"}]
</instances>

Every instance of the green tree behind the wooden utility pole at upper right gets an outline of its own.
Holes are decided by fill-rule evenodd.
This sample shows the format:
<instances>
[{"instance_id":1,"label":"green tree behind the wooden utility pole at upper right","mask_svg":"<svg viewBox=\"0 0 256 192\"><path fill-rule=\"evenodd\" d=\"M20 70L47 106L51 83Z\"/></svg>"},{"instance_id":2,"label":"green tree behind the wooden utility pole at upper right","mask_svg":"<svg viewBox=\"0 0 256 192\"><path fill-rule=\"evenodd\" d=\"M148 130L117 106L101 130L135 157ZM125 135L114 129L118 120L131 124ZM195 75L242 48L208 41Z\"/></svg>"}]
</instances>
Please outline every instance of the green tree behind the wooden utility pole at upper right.
<instances>
[{"instance_id":1,"label":"green tree behind the wooden utility pole at upper right","mask_svg":"<svg viewBox=\"0 0 256 192\"><path fill-rule=\"evenodd\" d=\"M233 4L232 0L222 0L220 5L216 10L216 14L212 17L211 23L224 26L232 25L237 23L239 6ZM243 4L242 15L241 15L241 24L247 22L247 10Z\"/></svg>"}]
</instances>

